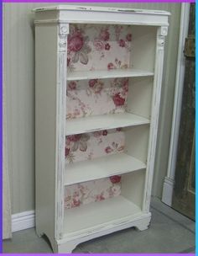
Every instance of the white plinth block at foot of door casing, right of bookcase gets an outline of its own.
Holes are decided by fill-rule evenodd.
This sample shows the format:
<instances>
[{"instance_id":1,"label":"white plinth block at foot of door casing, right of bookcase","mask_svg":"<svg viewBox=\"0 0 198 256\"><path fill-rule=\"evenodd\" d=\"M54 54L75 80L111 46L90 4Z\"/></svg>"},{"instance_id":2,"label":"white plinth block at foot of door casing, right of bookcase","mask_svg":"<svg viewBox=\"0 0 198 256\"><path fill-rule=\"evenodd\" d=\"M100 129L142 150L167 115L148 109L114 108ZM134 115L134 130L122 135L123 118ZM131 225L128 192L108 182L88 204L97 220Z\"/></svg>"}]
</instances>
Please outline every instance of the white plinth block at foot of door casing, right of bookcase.
<instances>
[{"instance_id":1,"label":"white plinth block at foot of door casing, right of bookcase","mask_svg":"<svg viewBox=\"0 0 198 256\"><path fill-rule=\"evenodd\" d=\"M165 177L164 186L162 192L162 201L164 204L171 206L172 205L172 196L174 189L174 180L169 177Z\"/></svg>"}]
</instances>

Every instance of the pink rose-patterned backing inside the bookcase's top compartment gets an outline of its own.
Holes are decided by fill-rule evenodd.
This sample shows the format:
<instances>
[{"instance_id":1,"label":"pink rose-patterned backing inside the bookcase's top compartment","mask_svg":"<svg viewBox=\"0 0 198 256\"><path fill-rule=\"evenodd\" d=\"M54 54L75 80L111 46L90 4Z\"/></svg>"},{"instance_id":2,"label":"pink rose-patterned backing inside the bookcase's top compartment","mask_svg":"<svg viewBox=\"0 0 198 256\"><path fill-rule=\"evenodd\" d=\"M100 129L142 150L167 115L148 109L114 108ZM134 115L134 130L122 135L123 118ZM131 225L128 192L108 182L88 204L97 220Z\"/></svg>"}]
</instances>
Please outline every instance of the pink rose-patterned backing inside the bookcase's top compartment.
<instances>
[{"instance_id":1,"label":"pink rose-patterned backing inside the bookcase's top compartment","mask_svg":"<svg viewBox=\"0 0 198 256\"><path fill-rule=\"evenodd\" d=\"M132 32L129 25L71 24L68 36L69 71L130 67Z\"/></svg>"}]
</instances>

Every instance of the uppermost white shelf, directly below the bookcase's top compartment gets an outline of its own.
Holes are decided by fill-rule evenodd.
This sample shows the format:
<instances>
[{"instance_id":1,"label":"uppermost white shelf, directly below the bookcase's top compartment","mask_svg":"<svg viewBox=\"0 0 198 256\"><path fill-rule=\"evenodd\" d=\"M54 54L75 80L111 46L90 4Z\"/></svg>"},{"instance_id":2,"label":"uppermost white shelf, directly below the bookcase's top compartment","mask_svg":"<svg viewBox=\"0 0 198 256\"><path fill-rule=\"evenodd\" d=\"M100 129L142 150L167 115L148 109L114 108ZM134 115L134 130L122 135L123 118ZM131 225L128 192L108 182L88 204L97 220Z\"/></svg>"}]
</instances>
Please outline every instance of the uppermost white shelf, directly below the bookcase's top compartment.
<instances>
[{"instance_id":1,"label":"uppermost white shelf, directly below the bookcase's top compartment","mask_svg":"<svg viewBox=\"0 0 198 256\"><path fill-rule=\"evenodd\" d=\"M154 76L154 72L143 71L139 69L112 69L112 70L94 70L94 71L76 71L68 72L67 80L86 80L95 78L117 78L117 77L149 77Z\"/></svg>"}]
</instances>

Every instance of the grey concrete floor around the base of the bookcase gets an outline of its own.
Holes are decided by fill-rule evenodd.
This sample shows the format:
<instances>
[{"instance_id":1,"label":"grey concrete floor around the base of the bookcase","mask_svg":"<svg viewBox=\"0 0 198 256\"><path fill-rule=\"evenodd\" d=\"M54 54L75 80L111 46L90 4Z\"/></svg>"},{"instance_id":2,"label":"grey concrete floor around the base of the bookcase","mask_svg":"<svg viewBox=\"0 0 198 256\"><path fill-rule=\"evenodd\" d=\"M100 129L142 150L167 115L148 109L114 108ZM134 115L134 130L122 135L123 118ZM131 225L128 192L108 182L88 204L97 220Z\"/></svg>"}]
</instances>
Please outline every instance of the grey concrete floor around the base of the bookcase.
<instances>
[{"instance_id":1,"label":"grey concrete floor around the base of the bookcase","mask_svg":"<svg viewBox=\"0 0 198 256\"><path fill-rule=\"evenodd\" d=\"M148 230L128 228L81 243L73 253L195 253L195 222L154 198ZM46 237L34 228L14 232L3 241L3 253L52 253Z\"/></svg>"}]
</instances>

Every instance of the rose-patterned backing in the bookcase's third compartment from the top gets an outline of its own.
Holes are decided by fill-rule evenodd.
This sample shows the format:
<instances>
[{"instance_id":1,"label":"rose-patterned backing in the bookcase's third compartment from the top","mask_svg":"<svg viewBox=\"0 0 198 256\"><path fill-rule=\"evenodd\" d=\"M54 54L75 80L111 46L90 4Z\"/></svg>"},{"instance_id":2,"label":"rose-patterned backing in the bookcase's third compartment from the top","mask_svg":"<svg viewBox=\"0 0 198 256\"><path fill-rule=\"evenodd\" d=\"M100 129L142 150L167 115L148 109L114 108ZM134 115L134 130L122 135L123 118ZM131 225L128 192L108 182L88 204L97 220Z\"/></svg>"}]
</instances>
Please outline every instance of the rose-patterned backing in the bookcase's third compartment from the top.
<instances>
[{"instance_id":1,"label":"rose-patterned backing in the bookcase's third compartment from the top","mask_svg":"<svg viewBox=\"0 0 198 256\"><path fill-rule=\"evenodd\" d=\"M120 128L66 136L65 161L75 163L123 152L124 144Z\"/></svg>"}]
</instances>

